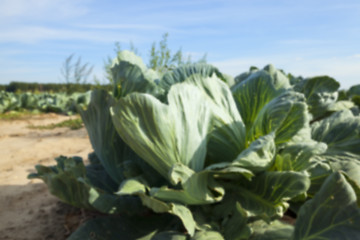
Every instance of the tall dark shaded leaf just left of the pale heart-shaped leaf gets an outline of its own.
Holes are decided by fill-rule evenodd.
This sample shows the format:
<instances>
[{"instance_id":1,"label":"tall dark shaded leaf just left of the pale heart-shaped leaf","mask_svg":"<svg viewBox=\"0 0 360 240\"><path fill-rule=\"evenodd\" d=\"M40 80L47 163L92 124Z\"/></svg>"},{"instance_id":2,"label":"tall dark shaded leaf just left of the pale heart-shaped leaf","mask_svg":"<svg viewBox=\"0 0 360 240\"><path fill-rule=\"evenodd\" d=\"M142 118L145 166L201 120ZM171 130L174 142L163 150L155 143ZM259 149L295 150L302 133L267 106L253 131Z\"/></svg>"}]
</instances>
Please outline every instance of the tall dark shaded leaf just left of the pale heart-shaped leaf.
<instances>
[{"instance_id":1,"label":"tall dark shaded leaf just left of the pale heart-shaped leaf","mask_svg":"<svg viewBox=\"0 0 360 240\"><path fill-rule=\"evenodd\" d=\"M157 173L124 143L117 134L110 115L114 99L103 90L94 90L86 110L79 109L90 142L101 164L111 178L122 180L144 174L152 183L159 180Z\"/></svg>"}]
</instances>

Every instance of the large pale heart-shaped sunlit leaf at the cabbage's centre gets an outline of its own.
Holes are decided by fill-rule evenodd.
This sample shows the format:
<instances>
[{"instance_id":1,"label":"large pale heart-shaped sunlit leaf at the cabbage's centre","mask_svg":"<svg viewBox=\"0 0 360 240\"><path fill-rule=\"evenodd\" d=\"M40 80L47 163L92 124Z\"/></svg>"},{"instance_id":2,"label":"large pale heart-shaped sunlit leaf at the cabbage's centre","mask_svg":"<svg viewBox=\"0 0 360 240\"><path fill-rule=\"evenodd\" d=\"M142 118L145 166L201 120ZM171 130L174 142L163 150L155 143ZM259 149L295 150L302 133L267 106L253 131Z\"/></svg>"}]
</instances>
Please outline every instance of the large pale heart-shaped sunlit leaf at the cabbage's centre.
<instances>
[{"instance_id":1,"label":"large pale heart-shaped sunlit leaf at the cabbage's centre","mask_svg":"<svg viewBox=\"0 0 360 240\"><path fill-rule=\"evenodd\" d=\"M172 87L169 105L150 95L132 94L113 107L122 139L162 176L173 164L204 167L211 110L203 93L186 83Z\"/></svg>"}]
</instances>

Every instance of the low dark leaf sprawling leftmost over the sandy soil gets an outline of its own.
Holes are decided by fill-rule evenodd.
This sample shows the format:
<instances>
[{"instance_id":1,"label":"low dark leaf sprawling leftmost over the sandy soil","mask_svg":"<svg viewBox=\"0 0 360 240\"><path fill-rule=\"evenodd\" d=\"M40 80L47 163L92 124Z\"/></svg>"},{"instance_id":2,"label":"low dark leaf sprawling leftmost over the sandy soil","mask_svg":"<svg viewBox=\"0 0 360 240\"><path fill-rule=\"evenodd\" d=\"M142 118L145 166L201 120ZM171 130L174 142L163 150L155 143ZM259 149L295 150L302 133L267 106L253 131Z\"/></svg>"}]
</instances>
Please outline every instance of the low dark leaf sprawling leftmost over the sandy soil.
<instances>
[{"instance_id":1,"label":"low dark leaf sprawling leftmost over the sandy soil","mask_svg":"<svg viewBox=\"0 0 360 240\"><path fill-rule=\"evenodd\" d=\"M58 157L57 165L45 167L37 165L37 173L30 174L29 178L42 179L49 188L51 194L61 201L79 208L97 210L102 213L137 213L143 210L140 200L134 196L116 196L104 191L92 184L88 178L86 168L81 158ZM98 179L106 179L98 172ZM99 184L99 183L97 183ZM108 183L101 183L101 186Z\"/></svg>"}]
</instances>

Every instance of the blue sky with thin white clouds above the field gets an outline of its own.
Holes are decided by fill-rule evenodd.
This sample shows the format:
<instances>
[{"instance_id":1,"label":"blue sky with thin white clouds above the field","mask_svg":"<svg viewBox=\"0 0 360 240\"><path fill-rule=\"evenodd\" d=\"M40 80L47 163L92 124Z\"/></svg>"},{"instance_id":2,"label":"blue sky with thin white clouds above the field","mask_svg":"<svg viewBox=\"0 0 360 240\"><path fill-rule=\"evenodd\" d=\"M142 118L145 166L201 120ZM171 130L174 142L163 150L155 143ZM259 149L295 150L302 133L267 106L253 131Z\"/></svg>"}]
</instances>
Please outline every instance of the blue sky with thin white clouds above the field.
<instances>
[{"instance_id":1,"label":"blue sky with thin white clouds above the field","mask_svg":"<svg viewBox=\"0 0 360 240\"><path fill-rule=\"evenodd\" d=\"M329 75L342 88L360 83L360 1L312 0L0 0L0 84L62 82L74 53L94 65L114 43L133 42L146 62L169 33L194 60L236 76L272 63L294 75Z\"/></svg>"}]
</instances>

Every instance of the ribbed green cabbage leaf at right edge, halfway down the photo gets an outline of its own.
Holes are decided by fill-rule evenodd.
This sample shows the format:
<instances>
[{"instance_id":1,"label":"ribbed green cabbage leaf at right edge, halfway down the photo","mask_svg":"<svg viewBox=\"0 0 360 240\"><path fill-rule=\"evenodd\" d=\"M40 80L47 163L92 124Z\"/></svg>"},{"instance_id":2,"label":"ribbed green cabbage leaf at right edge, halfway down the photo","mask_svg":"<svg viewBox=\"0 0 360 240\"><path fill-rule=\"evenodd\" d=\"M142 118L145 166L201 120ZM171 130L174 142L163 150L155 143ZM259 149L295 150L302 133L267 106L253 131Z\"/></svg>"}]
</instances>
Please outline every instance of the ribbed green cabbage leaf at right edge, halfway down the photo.
<instances>
[{"instance_id":1,"label":"ribbed green cabbage leaf at right edge, halfway down the photo","mask_svg":"<svg viewBox=\"0 0 360 240\"><path fill-rule=\"evenodd\" d=\"M336 112L311 128L313 139L326 143L329 150L360 154L360 117L350 110Z\"/></svg>"}]
</instances>

